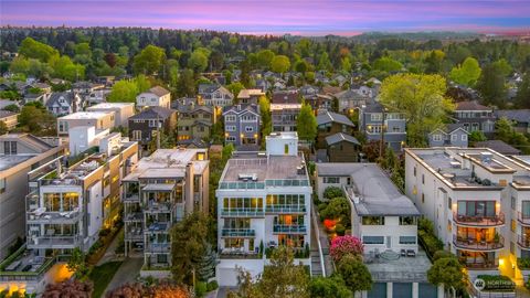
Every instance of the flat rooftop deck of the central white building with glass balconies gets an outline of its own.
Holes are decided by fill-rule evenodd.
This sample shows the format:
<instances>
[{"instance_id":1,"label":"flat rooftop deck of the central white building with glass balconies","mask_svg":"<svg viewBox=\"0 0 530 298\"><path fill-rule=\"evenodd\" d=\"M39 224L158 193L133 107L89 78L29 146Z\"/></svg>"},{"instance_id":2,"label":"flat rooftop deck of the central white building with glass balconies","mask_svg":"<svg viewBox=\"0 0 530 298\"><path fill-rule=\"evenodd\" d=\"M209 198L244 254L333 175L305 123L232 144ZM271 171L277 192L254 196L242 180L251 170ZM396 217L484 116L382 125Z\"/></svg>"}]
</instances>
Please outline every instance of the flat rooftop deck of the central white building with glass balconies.
<instances>
[{"instance_id":1,"label":"flat rooftop deck of the central white building with glass balconies","mask_svg":"<svg viewBox=\"0 0 530 298\"><path fill-rule=\"evenodd\" d=\"M304 160L300 156L258 156L257 152L240 152L229 160L221 182L241 181L240 174L255 174L257 181L273 179L307 180L306 174L299 174L297 167Z\"/></svg>"}]
</instances>

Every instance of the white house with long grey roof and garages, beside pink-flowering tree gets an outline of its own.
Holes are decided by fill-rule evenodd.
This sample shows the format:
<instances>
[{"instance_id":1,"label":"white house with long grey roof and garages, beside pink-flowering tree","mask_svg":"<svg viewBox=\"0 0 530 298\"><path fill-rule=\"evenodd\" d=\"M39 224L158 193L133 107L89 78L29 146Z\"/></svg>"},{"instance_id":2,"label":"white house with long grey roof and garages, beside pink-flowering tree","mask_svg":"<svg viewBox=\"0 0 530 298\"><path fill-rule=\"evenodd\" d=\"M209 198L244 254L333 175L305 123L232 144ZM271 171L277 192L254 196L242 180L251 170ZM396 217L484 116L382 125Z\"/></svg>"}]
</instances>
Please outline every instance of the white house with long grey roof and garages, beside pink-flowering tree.
<instances>
[{"instance_id":1,"label":"white house with long grey roof and garages, beside pink-flowering tree","mask_svg":"<svg viewBox=\"0 0 530 298\"><path fill-rule=\"evenodd\" d=\"M420 211L375 163L317 163L318 193L342 189L351 206L351 235L364 245L374 284L362 297L443 297L428 284L431 262L418 248Z\"/></svg>"}]
</instances>

